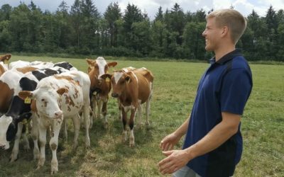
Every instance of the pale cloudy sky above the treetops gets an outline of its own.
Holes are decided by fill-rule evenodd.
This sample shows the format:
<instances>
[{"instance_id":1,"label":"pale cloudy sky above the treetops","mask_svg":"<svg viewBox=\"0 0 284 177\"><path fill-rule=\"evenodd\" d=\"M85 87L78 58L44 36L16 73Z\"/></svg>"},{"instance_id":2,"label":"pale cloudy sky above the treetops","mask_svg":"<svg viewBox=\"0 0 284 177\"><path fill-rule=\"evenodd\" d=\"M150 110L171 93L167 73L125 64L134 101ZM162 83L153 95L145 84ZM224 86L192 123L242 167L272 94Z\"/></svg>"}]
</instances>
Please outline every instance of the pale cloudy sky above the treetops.
<instances>
[{"instance_id":1,"label":"pale cloudy sky above the treetops","mask_svg":"<svg viewBox=\"0 0 284 177\"><path fill-rule=\"evenodd\" d=\"M11 6L18 6L20 1L25 4L30 4L31 0L0 0L0 6L3 4L10 4ZM46 9L54 12L57 10L62 0L33 0L36 6L39 6L42 11ZM75 0L65 0L69 7L74 4ZM162 6L163 12L166 8L170 10L173 8L175 3L178 3L182 10L186 13L187 11L195 12L203 8L206 12L214 8L229 8L231 5L234 9L240 11L244 16L248 16L254 9L260 16L265 16L269 6L273 6L275 11L280 8L284 8L284 0L93 0L94 5L99 10L99 13L103 14L106 11L107 6L111 2L118 2L121 12L124 10L127 4L134 4L141 9L142 12L146 12L148 16L153 20L155 13L158 11L158 7Z\"/></svg>"}]
</instances>

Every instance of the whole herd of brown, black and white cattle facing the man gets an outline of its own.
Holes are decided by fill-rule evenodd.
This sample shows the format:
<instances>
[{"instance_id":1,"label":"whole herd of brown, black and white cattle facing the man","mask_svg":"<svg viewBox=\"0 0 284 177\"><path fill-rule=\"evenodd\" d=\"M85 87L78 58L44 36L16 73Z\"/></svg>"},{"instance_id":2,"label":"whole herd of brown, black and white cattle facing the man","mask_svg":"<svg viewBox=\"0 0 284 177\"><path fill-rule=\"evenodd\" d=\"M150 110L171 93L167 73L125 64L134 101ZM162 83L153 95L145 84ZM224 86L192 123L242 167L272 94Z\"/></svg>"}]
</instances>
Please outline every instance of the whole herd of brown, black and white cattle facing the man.
<instances>
[{"instance_id":1,"label":"whole herd of brown, black and white cattle facing the man","mask_svg":"<svg viewBox=\"0 0 284 177\"><path fill-rule=\"evenodd\" d=\"M111 89L111 96L117 98L119 118L124 125L124 142L129 126L129 145L134 146L134 117L138 110L138 126L141 126L143 103L146 103L146 125L149 123L153 74L144 67L126 67L109 74L109 67L115 67L117 62L107 62L98 57L87 59L89 67L86 74L69 62L18 60L9 63L10 58L9 54L0 56L0 149L9 149L9 142L14 140L11 161L17 159L21 137L23 148L30 149L26 130L31 128L33 158L38 159L38 169L43 166L48 131L53 155L51 173L58 172L56 150L61 125L67 138L65 120L72 119L72 148L76 149L80 125L84 122L85 145L90 147L89 128L93 119L100 118L102 114L104 127L108 127L107 102Z\"/></svg>"}]
</instances>

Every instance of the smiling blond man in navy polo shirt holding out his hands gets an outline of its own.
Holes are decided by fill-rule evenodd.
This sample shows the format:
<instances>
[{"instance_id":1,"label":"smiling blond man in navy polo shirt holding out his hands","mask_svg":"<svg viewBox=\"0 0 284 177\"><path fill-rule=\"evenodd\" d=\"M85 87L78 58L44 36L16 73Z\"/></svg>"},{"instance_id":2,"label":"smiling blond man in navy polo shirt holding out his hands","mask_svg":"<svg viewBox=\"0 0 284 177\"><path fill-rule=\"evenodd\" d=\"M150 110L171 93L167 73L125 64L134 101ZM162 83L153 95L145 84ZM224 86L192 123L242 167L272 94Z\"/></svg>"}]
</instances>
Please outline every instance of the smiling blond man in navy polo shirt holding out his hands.
<instances>
[{"instance_id":1,"label":"smiling blond man in navy polo shirt holding out his hands","mask_svg":"<svg viewBox=\"0 0 284 177\"><path fill-rule=\"evenodd\" d=\"M246 19L234 9L213 11L206 19L205 49L215 57L200 79L190 117L160 142L167 156L158 163L162 174L232 176L241 159L240 121L252 76L235 46L246 29ZM172 150L183 135L182 150Z\"/></svg>"}]
</instances>

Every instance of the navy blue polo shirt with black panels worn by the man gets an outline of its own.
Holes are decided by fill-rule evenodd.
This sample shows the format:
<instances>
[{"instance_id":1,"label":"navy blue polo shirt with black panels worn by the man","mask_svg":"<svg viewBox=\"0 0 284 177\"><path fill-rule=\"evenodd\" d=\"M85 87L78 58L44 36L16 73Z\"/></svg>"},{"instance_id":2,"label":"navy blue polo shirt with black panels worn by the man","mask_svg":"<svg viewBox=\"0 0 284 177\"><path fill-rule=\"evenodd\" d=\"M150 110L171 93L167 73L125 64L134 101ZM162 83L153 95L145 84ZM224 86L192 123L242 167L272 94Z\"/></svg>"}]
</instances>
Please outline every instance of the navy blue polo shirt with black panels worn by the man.
<instances>
[{"instance_id":1,"label":"navy blue polo shirt with black panels worn by the man","mask_svg":"<svg viewBox=\"0 0 284 177\"><path fill-rule=\"evenodd\" d=\"M242 115L252 89L249 64L234 50L211 65L200 79L182 149L190 147L222 121L222 112ZM200 176L232 176L241 159L241 124L236 135L212 152L192 159L187 166Z\"/></svg>"}]
</instances>

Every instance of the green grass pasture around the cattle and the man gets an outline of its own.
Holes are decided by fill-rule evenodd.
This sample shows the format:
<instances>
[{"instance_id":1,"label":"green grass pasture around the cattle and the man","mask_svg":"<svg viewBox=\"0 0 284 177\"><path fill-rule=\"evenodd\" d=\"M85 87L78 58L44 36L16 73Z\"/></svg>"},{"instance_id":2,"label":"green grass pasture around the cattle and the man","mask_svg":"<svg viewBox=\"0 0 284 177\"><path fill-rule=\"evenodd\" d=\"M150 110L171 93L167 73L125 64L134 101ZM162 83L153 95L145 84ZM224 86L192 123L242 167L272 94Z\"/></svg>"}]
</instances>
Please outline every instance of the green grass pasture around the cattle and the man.
<instances>
[{"instance_id":1,"label":"green grass pasture around the cattle and the man","mask_svg":"<svg viewBox=\"0 0 284 177\"><path fill-rule=\"evenodd\" d=\"M12 61L68 61L87 71L84 59L13 56ZM107 58L115 61L114 58ZM122 123L118 120L116 100L108 104L109 129L102 120L94 120L90 130L91 148L84 149L84 130L72 152L73 129L70 121L68 140L59 140L58 169L54 176L161 176L158 161L163 159L158 144L187 118L195 99L198 81L205 63L117 61L115 69L146 67L154 76L150 126L134 127L136 147L121 142ZM244 152L234 176L284 176L284 65L251 64L253 91L241 119ZM144 111L145 112L145 111ZM145 119L143 119L145 122ZM46 144L46 160L36 171L31 151L23 152L9 163L11 148L0 152L0 176L50 176L51 151ZM11 143L11 146L13 144ZM182 139L178 146L182 146Z\"/></svg>"}]
</instances>

